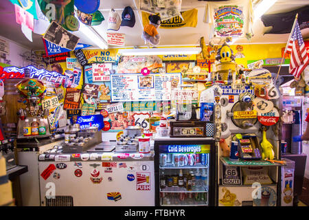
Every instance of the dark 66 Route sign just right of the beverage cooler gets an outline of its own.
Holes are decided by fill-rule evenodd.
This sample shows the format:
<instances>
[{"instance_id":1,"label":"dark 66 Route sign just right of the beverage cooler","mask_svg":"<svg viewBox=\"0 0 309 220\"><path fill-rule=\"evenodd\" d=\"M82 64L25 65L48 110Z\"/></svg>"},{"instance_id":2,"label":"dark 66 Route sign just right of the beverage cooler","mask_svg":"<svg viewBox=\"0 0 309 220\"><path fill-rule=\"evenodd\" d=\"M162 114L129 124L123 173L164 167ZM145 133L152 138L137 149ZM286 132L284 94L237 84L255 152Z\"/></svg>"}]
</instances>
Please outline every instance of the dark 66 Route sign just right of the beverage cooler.
<instances>
[{"instance_id":1,"label":"dark 66 Route sign just right of the beverage cooler","mask_svg":"<svg viewBox=\"0 0 309 220\"><path fill-rule=\"evenodd\" d=\"M242 185L240 166L222 164L222 185Z\"/></svg>"}]
</instances>

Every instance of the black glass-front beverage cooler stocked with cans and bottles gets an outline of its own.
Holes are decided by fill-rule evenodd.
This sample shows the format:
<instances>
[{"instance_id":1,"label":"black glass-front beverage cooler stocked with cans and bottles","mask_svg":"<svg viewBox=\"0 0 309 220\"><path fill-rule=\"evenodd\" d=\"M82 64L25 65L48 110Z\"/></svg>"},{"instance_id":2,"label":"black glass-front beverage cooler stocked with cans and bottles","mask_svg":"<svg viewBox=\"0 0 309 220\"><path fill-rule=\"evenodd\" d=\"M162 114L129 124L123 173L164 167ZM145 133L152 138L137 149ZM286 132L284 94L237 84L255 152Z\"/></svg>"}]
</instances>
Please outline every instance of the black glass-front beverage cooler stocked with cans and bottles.
<instances>
[{"instance_id":1,"label":"black glass-front beverage cooler stocked with cans and bottles","mask_svg":"<svg viewBox=\"0 0 309 220\"><path fill-rule=\"evenodd\" d=\"M156 206L214 206L215 153L211 138L155 140Z\"/></svg>"}]
</instances>

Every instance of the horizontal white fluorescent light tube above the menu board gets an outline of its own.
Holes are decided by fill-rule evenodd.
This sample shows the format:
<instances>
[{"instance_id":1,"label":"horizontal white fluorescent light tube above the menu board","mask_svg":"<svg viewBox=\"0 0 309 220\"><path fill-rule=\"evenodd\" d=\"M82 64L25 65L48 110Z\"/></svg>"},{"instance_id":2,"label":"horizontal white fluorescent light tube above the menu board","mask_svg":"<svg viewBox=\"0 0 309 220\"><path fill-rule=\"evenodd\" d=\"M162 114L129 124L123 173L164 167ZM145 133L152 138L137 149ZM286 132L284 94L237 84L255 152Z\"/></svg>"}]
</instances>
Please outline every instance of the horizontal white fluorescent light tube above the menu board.
<instances>
[{"instance_id":1,"label":"horizontal white fluorescent light tube above the menu board","mask_svg":"<svg viewBox=\"0 0 309 220\"><path fill-rule=\"evenodd\" d=\"M145 48L145 49L120 49L118 53L123 56L133 55L176 55L199 54L201 47L170 47L170 48Z\"/></svg>"}]
</instances>

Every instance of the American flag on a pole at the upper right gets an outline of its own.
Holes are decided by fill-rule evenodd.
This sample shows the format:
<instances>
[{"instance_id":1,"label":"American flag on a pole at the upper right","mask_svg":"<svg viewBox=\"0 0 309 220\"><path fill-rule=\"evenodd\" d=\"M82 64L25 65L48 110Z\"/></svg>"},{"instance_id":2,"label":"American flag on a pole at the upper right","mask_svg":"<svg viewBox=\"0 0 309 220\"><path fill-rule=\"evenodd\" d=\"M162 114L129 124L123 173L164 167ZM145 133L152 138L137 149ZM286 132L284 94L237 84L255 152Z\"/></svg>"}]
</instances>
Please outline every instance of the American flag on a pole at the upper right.
<instances>
[{"instance_id":1,"label":"American flag on a pole at the upper right","mask_svg":"<svg viewBox=\"0 0 309 220\"><path fill-rule=\"evenodd\" d=\"M297 20L295 22L295 28L290 37L290 42L288 42L286 52L290 54L290 68L288 72L296 78L299 78L301 72L303 72L309 64L309 58Z\"/></svg>"}]
</instances>

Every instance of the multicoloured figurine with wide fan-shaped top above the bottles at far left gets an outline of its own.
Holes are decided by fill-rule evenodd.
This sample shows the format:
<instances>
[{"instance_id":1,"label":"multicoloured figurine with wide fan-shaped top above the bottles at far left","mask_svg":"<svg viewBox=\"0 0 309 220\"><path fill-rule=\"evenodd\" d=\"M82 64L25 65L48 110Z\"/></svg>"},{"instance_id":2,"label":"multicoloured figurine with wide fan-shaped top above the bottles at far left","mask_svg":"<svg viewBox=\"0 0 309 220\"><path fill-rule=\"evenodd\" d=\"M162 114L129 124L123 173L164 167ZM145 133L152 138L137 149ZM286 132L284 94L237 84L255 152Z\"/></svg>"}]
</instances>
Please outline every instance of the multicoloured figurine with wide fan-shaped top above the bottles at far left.
<instances>
[{"instance_id":1,"label":"multicoloured figurine with wide fan-shaped top above the bottles at far left","mask_svg":"<svg viewBox=\"0 0 309 220\"><path fill-rule=\"evenodd\" d=\"M45 86L41 81L34 79L22 80L16 84L17 89L26 96L27 101L30 102L30 114L34 116L42 115L43 111L40 108L41 98L46 91Z\"/></svg>"}]
</instances>

